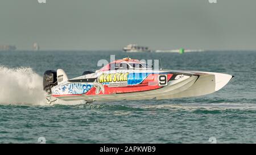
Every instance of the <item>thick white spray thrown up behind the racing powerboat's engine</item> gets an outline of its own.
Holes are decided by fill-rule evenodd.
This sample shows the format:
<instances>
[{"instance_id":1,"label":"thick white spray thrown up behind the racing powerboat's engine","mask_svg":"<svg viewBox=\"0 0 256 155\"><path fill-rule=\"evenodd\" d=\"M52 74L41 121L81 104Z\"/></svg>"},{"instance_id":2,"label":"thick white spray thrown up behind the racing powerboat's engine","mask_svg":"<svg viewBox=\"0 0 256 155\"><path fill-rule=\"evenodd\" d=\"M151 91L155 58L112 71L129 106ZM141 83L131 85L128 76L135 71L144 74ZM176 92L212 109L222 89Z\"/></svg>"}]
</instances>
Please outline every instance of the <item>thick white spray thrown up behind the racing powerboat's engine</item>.
<instances>
[{"instance_id":1,"label":"thick white spray thrown up behind the racing powerboat's engine","mask_svg":"<svg viewBox=\"0 0 256 155\"><path fill-rule=\"evenodd\" d=\"M31 68L0 66L0 104L46 104L43 78Z\"/></svg>"}]
</instances>

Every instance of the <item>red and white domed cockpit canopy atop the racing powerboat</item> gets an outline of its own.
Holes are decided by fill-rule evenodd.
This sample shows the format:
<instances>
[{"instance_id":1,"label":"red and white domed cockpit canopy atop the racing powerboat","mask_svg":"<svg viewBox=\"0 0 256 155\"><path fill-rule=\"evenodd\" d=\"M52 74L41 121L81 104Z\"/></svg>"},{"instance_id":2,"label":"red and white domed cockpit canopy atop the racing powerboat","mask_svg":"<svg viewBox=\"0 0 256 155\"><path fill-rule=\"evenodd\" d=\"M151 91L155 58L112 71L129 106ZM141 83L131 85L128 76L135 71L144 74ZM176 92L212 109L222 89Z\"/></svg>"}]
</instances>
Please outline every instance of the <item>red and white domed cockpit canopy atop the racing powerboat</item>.
<instances>
[{"instance_id":1,"label":"red and white domed cockpit canopy atop the racing powerboat","mask_svg":"<svg viewBox=\"0 0 256 155\"><path fill-rule=\"evenodd\" d=\"M121 60L115 60L108 65L102 67L99 71L108 70L123 70L123 69L152 69L146 62L139 61L131 58L123 58Z\"/></svg>"}]
</instances>

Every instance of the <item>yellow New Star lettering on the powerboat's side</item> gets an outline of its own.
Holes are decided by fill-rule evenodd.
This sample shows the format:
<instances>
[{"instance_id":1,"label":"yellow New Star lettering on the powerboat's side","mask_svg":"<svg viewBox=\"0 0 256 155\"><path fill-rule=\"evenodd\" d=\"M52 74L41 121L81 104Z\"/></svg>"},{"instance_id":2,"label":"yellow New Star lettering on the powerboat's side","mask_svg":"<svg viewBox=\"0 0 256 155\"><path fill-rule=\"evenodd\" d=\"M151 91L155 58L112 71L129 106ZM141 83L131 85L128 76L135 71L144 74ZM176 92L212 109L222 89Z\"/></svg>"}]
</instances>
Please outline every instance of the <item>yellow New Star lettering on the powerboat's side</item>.
<instances>
[{"instance_id":1,"label":"yellow New Star lettering on the powerboat's side","mask_svg":"<svg viewBox=\"0 0 256 155\"><path fill-rule=\"evenodd\" d=\"M129 73L113 73L113 74L101 74L100 77L98 77L98 81L100 83L103 82L127 82Z\"/></svg>"}]
</instances>

